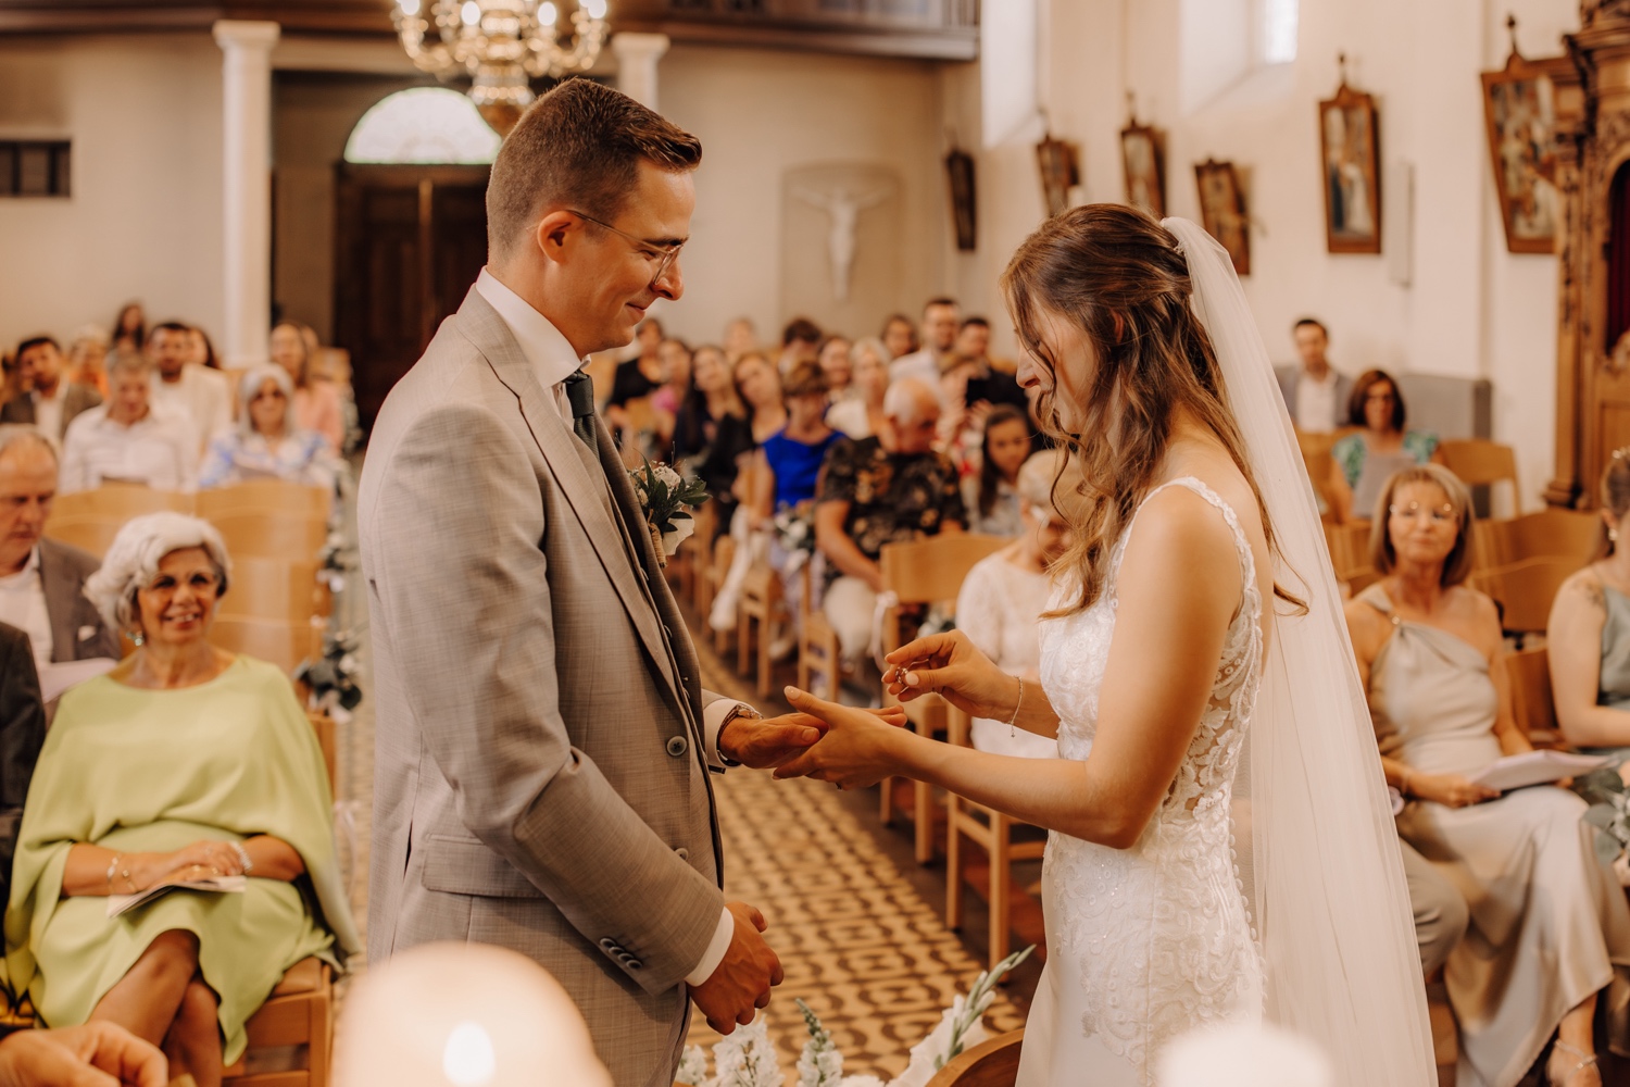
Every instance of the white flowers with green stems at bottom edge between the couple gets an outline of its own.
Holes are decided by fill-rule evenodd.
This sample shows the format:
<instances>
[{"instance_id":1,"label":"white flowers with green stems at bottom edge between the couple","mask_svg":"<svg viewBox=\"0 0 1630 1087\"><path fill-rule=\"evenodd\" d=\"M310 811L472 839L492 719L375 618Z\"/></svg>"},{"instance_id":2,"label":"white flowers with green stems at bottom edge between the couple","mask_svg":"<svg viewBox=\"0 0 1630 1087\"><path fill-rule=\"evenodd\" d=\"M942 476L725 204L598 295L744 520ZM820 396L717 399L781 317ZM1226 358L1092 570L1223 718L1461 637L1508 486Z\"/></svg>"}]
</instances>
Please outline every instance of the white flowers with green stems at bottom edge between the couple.
<instances>
[{"instance_id":1,"label":"white flowers with green stems at bottom edge between the couple","mask_svg":"<svg viewBox=\"0 0 1630 1087\"><path fill-rule=\"evenodd\" d=\"M975 978L968 994L952 1001L932 1033L911 1046L911 1063L906 1071L887 1084L875 1076L844 1076L843 1053L833 1043L831 1032L822 1025L808 1004L797 1001L810 1032L810 1040L804 1043L804 1053L799 1056L797 1087L924 1087L950 1059L986 1040L985 1012L996 999L996 983L1033 950L1032 944L1022 952L1014 952ZM707 1054L701 1046L691 1046L680 1059L675 1082L691 1087L781 1087L786 1082L763 1019L751 1027L737 1027L716 1045L714 1067L717 1074L709 1079Z\"/></svg>"}]
</instances>

